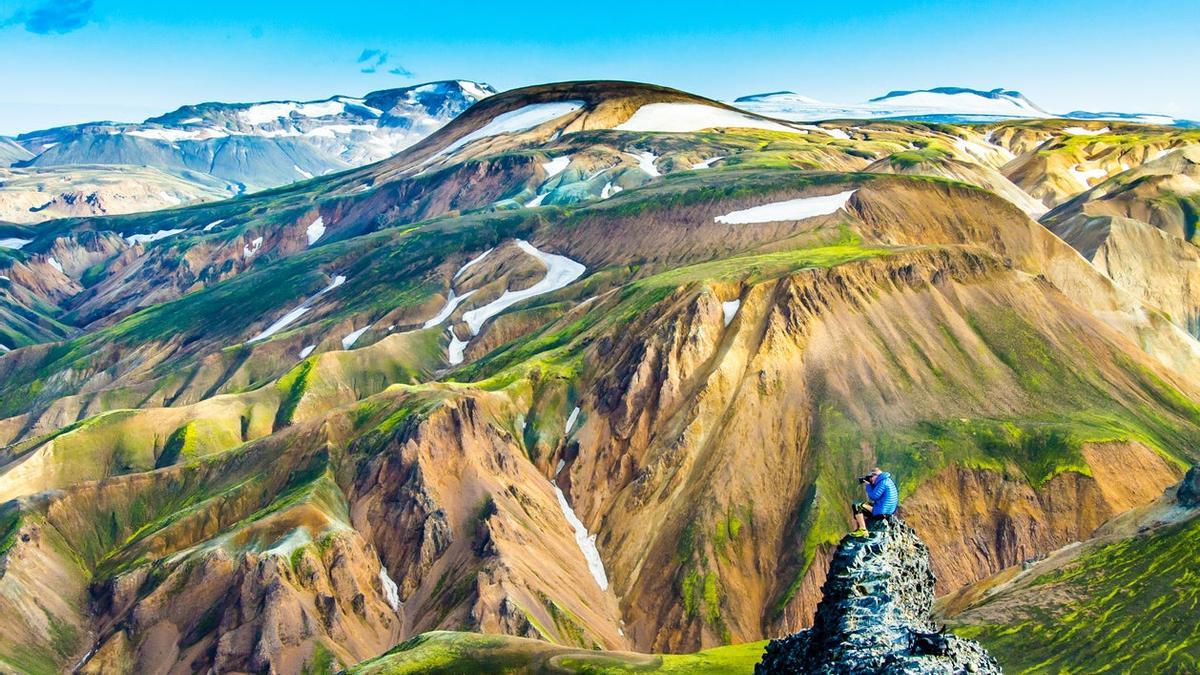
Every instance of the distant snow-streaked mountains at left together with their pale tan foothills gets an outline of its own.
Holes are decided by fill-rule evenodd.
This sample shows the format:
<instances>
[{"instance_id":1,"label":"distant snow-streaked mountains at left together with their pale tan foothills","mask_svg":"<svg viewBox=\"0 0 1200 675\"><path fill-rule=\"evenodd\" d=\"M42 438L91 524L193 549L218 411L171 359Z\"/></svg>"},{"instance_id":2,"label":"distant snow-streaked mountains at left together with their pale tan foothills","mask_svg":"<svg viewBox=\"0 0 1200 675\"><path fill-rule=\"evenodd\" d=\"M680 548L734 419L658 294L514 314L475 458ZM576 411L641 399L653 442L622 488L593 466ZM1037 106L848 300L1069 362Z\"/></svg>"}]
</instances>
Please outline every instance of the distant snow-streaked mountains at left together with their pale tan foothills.
<instances>
[{"instance_id":1,"label":"distant snow-streaked mountains at left together with their pale tan foothills","mask_svg":"<svg viewBox=\"0 0 1200 675\"><path fill-rule=\"evenodd\" d=\"M361 97L198 103L143 123L30 131L0 139L0 166L11 167L0 184L0 220L155 210L306 180L395 155L494 92L448 80Z\"/></svg>"}]
</instances>

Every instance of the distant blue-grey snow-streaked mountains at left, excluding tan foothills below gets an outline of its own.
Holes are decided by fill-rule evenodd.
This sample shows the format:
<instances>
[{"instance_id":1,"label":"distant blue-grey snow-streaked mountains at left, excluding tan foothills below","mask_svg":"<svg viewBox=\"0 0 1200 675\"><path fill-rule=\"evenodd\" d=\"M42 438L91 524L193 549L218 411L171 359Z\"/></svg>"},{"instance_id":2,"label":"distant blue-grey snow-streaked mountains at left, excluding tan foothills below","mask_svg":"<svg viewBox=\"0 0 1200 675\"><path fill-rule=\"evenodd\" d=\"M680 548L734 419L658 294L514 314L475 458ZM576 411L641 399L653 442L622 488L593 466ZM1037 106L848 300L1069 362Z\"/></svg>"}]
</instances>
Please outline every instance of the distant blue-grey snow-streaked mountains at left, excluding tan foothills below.
<instances>
[{"instance_id":1,"label":"distant blue-grey snow-streaked mountains at left, excluding tan foothills below","mask_svg":"<svg viewBox=\"0 0 1200 675\"><path fill-rule=\"evenodd\" d=\"M0 166L107 165L118 173L142 166L205 174L204 191L216 183L238 195L390 157L494 92L449 80L364 97L197 103L144 123L94 121L0 138Z\"/></svg>"}]
</instances>

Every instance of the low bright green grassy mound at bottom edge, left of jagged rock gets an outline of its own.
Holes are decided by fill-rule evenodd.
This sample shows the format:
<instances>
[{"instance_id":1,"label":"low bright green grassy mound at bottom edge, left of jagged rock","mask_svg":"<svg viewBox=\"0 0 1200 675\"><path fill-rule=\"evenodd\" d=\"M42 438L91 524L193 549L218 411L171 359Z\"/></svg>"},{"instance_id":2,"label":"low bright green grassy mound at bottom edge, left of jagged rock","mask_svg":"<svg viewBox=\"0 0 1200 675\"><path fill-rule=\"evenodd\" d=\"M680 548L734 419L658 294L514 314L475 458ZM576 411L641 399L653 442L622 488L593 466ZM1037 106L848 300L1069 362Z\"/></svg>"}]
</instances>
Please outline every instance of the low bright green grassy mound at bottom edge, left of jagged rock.
<instances>
[{"instance_id":1,"label":"low bright green grassy mound at bottom edge, left of jagged rock","mask_svg":"<svg viewBox=\"0 0 1200 675\"><path fill-rule=\"evenodd\" d=\"M409 673L751 673L766 641L685 655L641 655L560 647L540 640L433 632L404 641L390 652L350 668L362 675Z\"/></svg>"}]
</instances>

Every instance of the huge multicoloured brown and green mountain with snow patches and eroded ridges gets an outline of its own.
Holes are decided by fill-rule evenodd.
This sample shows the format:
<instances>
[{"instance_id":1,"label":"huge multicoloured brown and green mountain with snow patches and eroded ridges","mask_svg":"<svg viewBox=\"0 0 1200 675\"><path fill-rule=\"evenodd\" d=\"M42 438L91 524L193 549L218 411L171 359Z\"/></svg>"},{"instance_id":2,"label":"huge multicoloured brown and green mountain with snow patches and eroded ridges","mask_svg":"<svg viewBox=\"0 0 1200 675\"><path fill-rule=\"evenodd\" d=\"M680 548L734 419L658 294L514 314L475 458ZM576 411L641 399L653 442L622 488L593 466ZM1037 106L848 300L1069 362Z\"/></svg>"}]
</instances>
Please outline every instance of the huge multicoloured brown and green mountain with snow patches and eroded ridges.
<instances>
[{"instance_id":1,"label":"huge multicoloured brown and green mountain with snow patches and eroded ridges","mask_svg":"<svg viewBox=\"0 0 1200 675\"><path fill-rule=\"evenodd\" d=\"M811 623L874 464L937 593L1087 539L1200 459L1200 345L1031 213L1198 135L558 83L238 199L0 225L0 659L748 667L719 646Z\"/></svg>"}]
</instances>

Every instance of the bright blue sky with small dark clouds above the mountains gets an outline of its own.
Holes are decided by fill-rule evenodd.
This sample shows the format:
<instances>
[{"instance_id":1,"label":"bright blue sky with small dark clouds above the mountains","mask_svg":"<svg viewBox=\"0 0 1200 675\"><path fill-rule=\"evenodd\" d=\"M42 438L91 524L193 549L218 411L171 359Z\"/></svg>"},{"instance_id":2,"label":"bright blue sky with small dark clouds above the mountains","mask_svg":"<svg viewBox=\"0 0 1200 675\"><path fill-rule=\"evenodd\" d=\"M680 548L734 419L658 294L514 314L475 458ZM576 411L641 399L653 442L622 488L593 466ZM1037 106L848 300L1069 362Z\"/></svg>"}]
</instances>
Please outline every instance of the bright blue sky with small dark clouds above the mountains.
<instances>
[{"instance_id":1,"label":"bright blue sky with small dark clouds above the mountains","mask_svg":"<svg viewBox=\"0 0 1200 675\"><path fill-rule=\"evenodd\" d=\"M1196 0L0 0L0 135L437 79L634 79L713 98L1016 89L1200 119Z\"/></svg>"}]
</instances>

